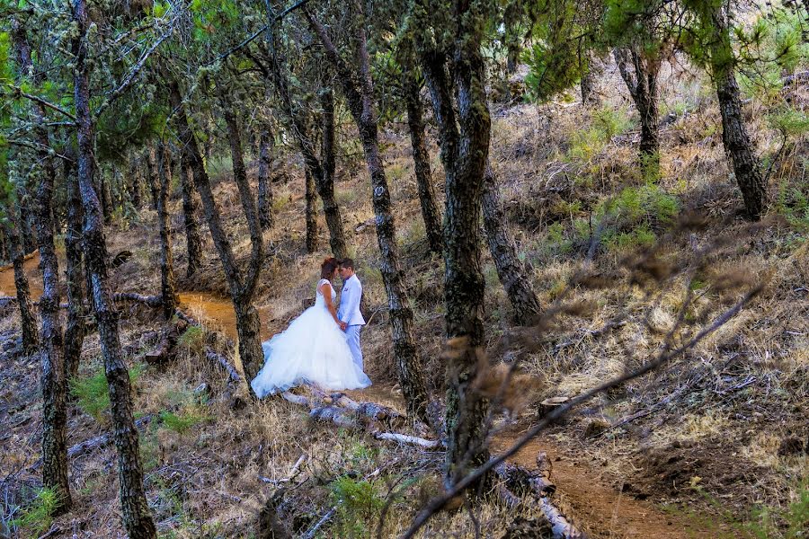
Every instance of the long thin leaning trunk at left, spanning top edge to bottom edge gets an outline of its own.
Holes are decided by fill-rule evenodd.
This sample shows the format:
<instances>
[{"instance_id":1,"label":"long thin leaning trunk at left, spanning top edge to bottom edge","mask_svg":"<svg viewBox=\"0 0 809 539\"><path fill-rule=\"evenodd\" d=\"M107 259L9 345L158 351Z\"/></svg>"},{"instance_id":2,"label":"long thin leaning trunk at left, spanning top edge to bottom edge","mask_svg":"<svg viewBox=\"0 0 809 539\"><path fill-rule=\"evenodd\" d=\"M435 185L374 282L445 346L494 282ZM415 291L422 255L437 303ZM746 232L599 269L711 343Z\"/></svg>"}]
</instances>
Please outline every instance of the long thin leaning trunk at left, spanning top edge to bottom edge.
<instances>
[{"instance_id":1,"label":"long thin leaning trunk at left, spanning top edge to bottom edge","mask_svg":"<svg viewBox=\"0 0 809 539\"><path fill-rule=\"evenodd\" d=\"M121 356L119 314L112 302L107 275L101 205L93 189L93 118L90 113L90 66L87 64L89 17L86 0L76 0L73 4L73 18L77 26L73 38L74 101L78 183L84 205L84 253L92 279L90 292L109 384L112 433L119 456L120 508L130 539L153 539L156 529L143 489L143 469L140 466L138 429L132 417L129 372Z\"/></svg>"}]
</instances>

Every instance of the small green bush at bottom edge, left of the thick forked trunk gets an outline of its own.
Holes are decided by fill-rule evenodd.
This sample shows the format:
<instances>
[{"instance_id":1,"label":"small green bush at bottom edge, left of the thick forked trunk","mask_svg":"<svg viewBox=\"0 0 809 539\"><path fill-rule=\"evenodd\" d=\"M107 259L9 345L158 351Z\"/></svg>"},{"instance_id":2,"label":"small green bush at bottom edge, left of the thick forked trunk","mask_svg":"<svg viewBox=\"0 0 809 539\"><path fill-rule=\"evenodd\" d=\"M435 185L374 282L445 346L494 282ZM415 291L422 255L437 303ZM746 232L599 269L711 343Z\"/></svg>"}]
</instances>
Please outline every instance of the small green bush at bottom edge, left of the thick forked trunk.
<instances>
[{"instance_id":1,"label":"small green bush at bottom edge, left of the thick forked trunk","mask_svg":"<svg viewBox=\"0 0 809 539\"><path fill-rule=\"evenodd\" d=\"M384 496L367 481L340 477L330 485L337 505L337 536L368 537L369 522L385 506Z\"/></svg>"}]
</instances>

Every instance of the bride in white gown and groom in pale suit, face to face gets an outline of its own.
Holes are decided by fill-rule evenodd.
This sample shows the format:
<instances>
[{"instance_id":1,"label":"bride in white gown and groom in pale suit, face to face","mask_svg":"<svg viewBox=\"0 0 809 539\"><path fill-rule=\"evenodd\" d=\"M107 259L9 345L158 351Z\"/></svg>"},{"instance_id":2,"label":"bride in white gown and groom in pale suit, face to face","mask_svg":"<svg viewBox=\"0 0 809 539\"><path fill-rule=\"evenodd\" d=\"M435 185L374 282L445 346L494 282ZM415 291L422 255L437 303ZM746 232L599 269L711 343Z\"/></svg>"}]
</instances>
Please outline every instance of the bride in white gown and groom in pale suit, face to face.
<instances>
[{"instance_id":1,"label":"bride in white gown and groom in pale suit, face to face","mask_svg":"<svg viewBox=\"0 0 809 539\"><path fill-rule=\"evenodd\" d=\"M340 275L340 307L333 279ZM299 384L324 390L358 389L371 382L362 371L360 313L362 285L354 261L327 258L320 266L315 305L289 324L286 331L262 343L264 367L250 385L260 398Z\"/></svg>"}]
</instances>

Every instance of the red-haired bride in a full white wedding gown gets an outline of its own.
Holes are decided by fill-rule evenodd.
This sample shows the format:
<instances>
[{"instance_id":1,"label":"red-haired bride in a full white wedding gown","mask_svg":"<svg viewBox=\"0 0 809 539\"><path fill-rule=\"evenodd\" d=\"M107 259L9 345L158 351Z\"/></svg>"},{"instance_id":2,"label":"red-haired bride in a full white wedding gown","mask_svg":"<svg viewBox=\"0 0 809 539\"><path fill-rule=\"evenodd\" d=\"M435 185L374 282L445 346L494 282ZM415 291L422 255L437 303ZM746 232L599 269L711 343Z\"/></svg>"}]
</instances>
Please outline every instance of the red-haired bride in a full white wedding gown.
<instances>
[{"instance_id":1,"label":"red-haired bride in a full white wedding gown","mask_svg":"<svg viewBox=\"0 0 809 539\"><path fill-rule=\"evenodd\" d=\"M332 280L339 263L327 258L320 266L315 305L289 324L287 331L262 342L264 367L250 385L259 397L314 384L324 390L358 389L371 384L357 367L337 318Z\"/></svg>"}]
</instances>

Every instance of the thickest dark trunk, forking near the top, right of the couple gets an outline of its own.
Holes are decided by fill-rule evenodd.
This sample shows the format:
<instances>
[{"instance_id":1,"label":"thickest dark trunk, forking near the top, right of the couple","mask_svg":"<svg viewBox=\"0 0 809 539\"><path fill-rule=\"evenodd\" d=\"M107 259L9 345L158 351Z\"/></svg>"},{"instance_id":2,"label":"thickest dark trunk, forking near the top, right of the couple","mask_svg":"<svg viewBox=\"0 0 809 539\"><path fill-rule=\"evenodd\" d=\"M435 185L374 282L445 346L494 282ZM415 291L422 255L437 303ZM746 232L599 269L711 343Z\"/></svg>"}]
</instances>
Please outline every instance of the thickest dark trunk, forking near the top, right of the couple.
<instances>
[{"instance_id":1,"label":"thickest dark trunk, forking near the top, right of the couple","mask_svg":"<svg viewBox=\"0 0 809 539\"><path fill-rule=\"evenodd\" d=\"M458 14L453 61L458 119L446 57L422 45L422 68L440 129L441 161L446 175L444 212L444 303L449 339L463 338L467 351L447 367L447 467L452 484L489 456L485 446L488 401L471 384L483 345L484 286L480 216L491 119L485 97L484 61L475 13ZM459 130L458 130L459 128ZM484 478L483 483L488 478Z\"/></svg>"}]
</instances>

